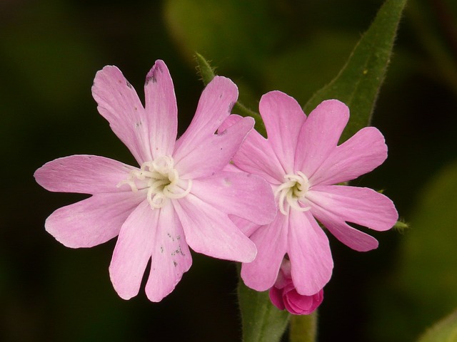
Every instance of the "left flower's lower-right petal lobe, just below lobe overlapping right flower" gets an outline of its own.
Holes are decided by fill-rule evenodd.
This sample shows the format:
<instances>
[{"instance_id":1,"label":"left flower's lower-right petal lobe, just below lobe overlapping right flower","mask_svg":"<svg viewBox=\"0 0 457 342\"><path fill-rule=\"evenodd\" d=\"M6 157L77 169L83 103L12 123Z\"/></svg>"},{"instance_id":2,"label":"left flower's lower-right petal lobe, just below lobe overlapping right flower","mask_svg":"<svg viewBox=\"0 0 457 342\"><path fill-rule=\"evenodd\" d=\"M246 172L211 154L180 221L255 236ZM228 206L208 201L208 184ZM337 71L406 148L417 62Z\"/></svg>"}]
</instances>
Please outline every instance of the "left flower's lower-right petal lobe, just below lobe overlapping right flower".
<instances>
[{"instance_id":1,"label":"left flower's lower-right petal lobe, just below lobe overlapping right flower","mask_svg":"<svg viewBox=\"0 0 457 342\"><path fill-rule=\"evenodd\" d=\"M256 246L228 215L192 194L173 202L191 249L209 257L251 262Z\"/></svg>"}]
</instances>

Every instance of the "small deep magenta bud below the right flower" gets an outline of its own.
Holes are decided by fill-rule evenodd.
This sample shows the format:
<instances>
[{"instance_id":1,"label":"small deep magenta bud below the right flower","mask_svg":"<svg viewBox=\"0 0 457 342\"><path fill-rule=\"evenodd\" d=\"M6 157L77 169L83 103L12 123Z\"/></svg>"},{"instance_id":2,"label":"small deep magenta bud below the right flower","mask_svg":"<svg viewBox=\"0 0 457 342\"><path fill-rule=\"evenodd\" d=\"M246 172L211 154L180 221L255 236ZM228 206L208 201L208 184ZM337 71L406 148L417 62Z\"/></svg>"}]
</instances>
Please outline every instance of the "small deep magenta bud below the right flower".
<instances>
[{"instance_id":1,"label":"small deep magenta bud below the right flower","mask_svg":"<svg viewBox=\"0 0 457 342\"><path fill-rule=\"evenodd\" d=\"M283 259L278 279L269 294L274 306L294 315L312 314L323 301L323 289L312 296L298 294L291 278L291 261L287 259Z\"/></svg>"}]
</instances>

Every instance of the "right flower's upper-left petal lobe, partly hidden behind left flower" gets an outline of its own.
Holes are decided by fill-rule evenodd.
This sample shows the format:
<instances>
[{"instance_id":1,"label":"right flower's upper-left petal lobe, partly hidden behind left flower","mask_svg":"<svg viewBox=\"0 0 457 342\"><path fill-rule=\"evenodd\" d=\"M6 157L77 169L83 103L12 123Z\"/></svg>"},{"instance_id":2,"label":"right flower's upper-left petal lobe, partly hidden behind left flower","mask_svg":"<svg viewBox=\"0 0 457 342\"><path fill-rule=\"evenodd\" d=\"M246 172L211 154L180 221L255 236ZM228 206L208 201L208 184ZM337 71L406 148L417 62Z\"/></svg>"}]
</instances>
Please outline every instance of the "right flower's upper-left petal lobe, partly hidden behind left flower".
<instances>
[{"instance_id":1,"label":"right flower's upper-left petal lobe, partly hidden behind left flower","mask_svg":"<svg viewBox=\"0 0 457 342\"><path fill-rule=\"evenodd\" d=\"M221 125L219 131L226 130L239 120L241 120L241 116L230 115ZM271 184L280 184L286 174L270 142L256 130L249 132L233 157L233 162L241 170L259 175Z\"/></svg>"}]
</instances>

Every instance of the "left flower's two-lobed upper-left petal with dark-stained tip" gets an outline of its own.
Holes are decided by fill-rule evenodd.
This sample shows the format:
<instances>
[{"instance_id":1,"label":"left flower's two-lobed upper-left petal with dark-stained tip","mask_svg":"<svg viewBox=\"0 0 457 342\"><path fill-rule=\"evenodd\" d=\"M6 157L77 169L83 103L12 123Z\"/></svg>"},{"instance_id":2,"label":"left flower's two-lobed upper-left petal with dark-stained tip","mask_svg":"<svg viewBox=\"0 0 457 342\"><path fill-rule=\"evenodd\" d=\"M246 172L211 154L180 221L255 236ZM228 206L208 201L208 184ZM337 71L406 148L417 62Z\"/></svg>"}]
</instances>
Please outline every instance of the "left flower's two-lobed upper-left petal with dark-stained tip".
<instances>
[{"instance_id":1,"label":"left flower's two-lobed upper-left petal with dark-stained tip","mask_svg":"<svg viewBox=\"0 0 457 342\"><path fill-rule=\"evenodd\" d=\"M146 76L146 110L133 86L116 66L96 73L92 95L99 113L129 147L139 165L174 147L177 108L173 83L163 61L156 61Z\"/></svg>"}]
</instances>

